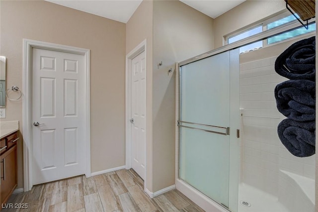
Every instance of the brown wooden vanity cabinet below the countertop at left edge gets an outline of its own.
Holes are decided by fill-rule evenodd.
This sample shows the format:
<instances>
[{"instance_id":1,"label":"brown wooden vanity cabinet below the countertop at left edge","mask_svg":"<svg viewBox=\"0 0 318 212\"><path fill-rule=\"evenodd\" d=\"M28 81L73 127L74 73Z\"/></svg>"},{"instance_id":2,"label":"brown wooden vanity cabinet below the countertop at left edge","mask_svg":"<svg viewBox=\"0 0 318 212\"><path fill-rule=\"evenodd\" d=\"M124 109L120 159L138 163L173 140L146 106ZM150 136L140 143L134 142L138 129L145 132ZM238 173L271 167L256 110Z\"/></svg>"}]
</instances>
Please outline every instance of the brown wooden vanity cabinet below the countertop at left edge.
<instances>
[{"instance_id":1,"label":"brown wooden vanity cabinet below the countertop at left edge","mask_svg":"<svg viewBox=\"0 0 318 212\"><path fill-rule=\"evenodd\" d=\"M4 151L0 151L1 204L6 203L17 186L17 132L11 133L4 139L7 147ZM1 139L1 147L2 140L3 138Z\"/></svg>"}]
</instances>

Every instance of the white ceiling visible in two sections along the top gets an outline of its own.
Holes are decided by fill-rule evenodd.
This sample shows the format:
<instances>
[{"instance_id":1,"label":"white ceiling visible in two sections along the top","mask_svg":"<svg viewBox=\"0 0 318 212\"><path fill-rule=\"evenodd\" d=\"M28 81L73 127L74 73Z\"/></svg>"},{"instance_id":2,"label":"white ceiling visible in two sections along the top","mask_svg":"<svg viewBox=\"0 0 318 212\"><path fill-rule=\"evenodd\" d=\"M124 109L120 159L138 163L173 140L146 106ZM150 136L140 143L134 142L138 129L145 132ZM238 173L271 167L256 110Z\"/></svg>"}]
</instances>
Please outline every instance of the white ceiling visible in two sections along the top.
<instances>
[{"instance_id":1,"label":"white ceiling visible in two sections along the top","mask_svg":"<svg viewBox=\"0 0 318 212\"><path fill-rule=\"evenodd\" d=\"M127 23L142 0L47 0L63 6ZM216 18L245 0L180 0Z\"/></svg>"}]
</instances>

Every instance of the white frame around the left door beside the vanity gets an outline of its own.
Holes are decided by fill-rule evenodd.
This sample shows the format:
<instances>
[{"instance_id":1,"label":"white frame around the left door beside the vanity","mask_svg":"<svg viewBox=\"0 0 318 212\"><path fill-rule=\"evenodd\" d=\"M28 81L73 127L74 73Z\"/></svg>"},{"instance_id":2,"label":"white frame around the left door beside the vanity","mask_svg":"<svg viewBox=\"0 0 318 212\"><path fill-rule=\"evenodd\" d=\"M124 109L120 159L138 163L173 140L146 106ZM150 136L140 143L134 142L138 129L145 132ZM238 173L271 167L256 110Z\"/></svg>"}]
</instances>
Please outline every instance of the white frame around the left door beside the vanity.
<instances>
[{"instance_id":1,"label":"white frame around the left door beside the vanity","mask_svg":"<svg viewBox=\"0 0 318 212\"><path fill-rule=\"evenodd\" d=\"M90 50L78 47L23 39L23 183L24 192L33 187L32 178L32 48L67 52L84 56L85 60L85 175L91 176L90 170Z\"/></svg>"}]
</instances>

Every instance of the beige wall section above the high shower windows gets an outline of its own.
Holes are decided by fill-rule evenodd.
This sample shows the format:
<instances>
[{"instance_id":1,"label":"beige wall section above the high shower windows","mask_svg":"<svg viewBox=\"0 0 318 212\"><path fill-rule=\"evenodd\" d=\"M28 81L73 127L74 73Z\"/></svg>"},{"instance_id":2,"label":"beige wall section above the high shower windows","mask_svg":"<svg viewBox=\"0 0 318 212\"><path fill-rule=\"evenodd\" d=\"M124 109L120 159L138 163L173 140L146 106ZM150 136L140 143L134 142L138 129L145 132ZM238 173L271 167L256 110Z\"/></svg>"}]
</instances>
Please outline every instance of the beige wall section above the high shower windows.
<instances>
[{"instance_id":1,"label":"beige wall section above the high shower windows","mask_svg":"<svg viewBox=\"0 0 318 212\"><path fill-rule=\"evenodd\" d=\"M214 19L214 47L223 46L224 36L286 9L283 0L246 0Z\"/></svg>"}]
</instances>

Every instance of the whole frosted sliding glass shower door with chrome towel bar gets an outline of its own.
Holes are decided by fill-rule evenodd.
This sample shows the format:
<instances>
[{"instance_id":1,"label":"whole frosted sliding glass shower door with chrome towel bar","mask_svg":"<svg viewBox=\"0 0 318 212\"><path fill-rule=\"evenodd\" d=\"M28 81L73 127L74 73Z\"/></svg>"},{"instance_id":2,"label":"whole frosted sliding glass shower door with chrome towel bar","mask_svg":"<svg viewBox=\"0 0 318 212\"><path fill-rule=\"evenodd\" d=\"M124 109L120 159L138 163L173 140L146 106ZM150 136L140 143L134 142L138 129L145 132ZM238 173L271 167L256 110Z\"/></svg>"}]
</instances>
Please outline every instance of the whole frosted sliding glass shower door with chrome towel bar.
<instances>
[{"instance_id":1,"label":"whole frosted sliding glass shower door with chrome towel bar","mask_svg":"<svg viewBox=\"0 0 318 212\"><path fill-rule=\"evenodd\" d=\"M235 55L237 67L233 70ZM231 93L237 90L238 94L239 89L232 79L239 76L238 57L238 51L223 52L183 65L179 72L179 178L227 208L230 174L235 173L230 171L230 154L236 154L230 135L237 129L230 126L232 119L239 118L239 97ZM234 106L238 107L237 118L232 118Z\"/></svg>"}]
</instances>

